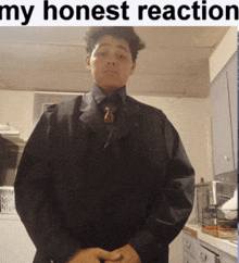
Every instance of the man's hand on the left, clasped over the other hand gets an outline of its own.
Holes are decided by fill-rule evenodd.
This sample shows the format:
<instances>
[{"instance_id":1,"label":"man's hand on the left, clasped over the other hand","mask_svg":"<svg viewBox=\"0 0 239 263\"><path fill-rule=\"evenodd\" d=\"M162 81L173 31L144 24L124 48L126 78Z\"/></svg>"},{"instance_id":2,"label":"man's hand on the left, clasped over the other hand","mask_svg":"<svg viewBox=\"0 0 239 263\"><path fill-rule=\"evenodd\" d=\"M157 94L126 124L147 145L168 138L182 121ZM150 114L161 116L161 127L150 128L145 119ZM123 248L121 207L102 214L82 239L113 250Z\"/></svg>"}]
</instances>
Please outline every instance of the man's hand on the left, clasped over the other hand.
<instances>
[{"instance_id":1,"label":"man's hand on the left, clasped over the other hand","mask_svg":"<svg viewBox=\"0 0 239 263\"><path fill-rule=\"evenodd\" d=\"M78 250L67 263L99 263L100 260L115 262L121 258L118 252L109 252L99 248L80 249Z\"/></svg>"}]
</instances>

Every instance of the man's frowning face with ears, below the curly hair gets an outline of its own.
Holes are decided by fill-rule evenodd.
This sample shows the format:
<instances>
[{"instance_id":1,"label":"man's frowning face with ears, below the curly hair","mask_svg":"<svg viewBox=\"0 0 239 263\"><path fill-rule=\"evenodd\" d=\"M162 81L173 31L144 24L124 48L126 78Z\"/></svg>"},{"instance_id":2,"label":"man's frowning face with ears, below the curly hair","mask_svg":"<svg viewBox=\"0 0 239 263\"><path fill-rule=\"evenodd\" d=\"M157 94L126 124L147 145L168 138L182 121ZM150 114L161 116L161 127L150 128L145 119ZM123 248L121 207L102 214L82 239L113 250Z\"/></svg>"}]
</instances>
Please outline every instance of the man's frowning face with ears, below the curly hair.
<instances>
[{"instance_id":1,"label":"man's frowning face with ears, below the curly hair","mask_svg":"<svg viewBox=\"0 0 239 263\"><path fill-rule=\"evenodd\" d=\"M136 66L128 42L110 35L99 39L86 63L93 82L106 93L123 87Z\"/></svg>"}]
</instances>

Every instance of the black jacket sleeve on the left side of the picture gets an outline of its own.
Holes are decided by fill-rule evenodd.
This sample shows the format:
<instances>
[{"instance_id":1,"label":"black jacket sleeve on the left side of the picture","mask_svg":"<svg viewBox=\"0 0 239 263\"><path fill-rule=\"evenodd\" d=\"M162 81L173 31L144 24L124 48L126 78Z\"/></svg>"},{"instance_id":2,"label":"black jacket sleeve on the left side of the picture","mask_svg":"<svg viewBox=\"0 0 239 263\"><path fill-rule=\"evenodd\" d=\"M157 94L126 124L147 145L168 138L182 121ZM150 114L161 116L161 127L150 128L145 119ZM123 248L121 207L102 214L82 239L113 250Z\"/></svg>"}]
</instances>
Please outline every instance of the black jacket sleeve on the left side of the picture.
<instances>
[{"instance_id":1,"label":"black jacket sleeve on the left side of the picture","mask_svg":"<svg viewBox=\"0 0 239 263\"><path fill-rule=\"evenodd\" d=\"M55 105L41 116L21 159L15 180L17 213L38 251L48 260L66 262L80 243L63 226L61 208L52 195L50 137Z\"/></svg>"}]
</instances>

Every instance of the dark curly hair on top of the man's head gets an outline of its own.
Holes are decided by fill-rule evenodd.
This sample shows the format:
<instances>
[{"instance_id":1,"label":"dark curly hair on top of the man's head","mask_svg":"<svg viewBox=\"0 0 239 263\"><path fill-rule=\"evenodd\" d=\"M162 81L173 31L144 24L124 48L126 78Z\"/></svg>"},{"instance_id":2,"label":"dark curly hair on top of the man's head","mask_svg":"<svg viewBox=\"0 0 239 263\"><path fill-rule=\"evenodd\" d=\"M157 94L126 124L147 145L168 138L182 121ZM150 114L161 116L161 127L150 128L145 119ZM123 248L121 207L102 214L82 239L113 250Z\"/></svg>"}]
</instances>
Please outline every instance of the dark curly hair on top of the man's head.
<instances>
[{"instance_id":1,"label":"dark curly hair on top of the man's head","mask_svg":"<svg viewBox=\"0 0 239 263\"><path fill-rule=\"evenodd\" d=\"M97 41L105 35L126 40L129 45L134 61L137 59L139 50L146 48L144 42L135 33L134 27L131 26L92 26L89 27L84 38L86 41L87 54L91 54Z\"/></svg>"}]
</instances>

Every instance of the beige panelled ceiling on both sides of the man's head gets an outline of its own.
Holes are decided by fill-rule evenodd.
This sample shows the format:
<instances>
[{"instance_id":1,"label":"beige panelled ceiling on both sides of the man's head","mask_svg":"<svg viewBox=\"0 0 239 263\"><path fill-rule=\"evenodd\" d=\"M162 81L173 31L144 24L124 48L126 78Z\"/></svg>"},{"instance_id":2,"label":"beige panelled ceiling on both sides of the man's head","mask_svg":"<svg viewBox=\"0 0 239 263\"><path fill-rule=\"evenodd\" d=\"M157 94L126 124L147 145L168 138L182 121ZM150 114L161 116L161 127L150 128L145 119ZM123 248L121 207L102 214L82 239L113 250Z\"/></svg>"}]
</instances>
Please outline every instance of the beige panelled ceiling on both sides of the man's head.
<instances>
[{"instance_id":1,"label":"beige panelled ceiling on both sides of the man's head","mask_svg":"<svg viewBox=\"0 0 239 263\"><path fill-rule=\"evenodd\" d=\"M209 57L229 27L135 27L140 51L130 95L206 97ZM0 89L88 91L88 27L0 27Z\"/></svg>"}]
</instances>

